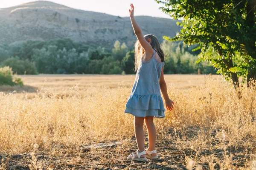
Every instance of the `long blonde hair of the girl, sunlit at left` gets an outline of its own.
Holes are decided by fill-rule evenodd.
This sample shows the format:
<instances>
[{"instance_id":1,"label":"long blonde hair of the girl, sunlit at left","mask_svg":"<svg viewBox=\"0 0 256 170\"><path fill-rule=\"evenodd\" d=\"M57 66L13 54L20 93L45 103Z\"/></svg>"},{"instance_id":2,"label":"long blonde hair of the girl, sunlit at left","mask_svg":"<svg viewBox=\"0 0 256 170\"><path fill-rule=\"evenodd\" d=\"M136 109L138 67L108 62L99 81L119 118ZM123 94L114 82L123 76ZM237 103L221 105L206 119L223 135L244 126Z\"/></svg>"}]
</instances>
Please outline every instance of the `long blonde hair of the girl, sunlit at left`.
<instances>
[{"instance_id":1,"label":"long blonde hair of the girl, sunlit at left","mask_svg":"<svg viewBox=\"0 0 256 170\"><path fill-rule=\"evenodd\" d=\"M150 45L152 46L153 49L155 49L158 53L158 55L161 58L161 61L164 61L164 53L163 50L161 48L160 42L158 41L157 37L155 37L154 35L151 34L147 34L144 35L144 38L146 39L146 41L148 41L148 38L151 39ZM134 68L134 72L136 72L139 68L141 59L143 57L143 54L145 53L145 50L143 49L143 47L140 45L140 42L137 40L135 42L134 45L135 48L135 52L134 52L134 64L135 64L135 68Z\"/></svg>"}]
</instances>

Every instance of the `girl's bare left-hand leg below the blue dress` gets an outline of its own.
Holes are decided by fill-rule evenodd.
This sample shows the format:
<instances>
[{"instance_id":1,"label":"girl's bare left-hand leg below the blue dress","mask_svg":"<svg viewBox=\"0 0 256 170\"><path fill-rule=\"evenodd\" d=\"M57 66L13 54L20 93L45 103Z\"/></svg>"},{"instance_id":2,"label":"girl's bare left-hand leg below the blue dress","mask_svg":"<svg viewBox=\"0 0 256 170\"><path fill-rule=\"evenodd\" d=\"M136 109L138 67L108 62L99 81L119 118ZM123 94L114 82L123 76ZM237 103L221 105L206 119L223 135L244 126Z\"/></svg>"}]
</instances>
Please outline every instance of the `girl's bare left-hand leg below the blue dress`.
<instances>
[{"instance_id":1,"label":"girl's bare left-hand leg below the blue dress","mask_svg":"<svg viewBox=\"0 0 256 170\"><path fill-rule=\"evenodd\" d=\"M139 152L145 150L143 121L144 117L134 116L134 131ZM138 157L137 154L135 154L135 157ZM144 158L145 155L142 155L140 157Z\"/></svg>"}]
</instances>

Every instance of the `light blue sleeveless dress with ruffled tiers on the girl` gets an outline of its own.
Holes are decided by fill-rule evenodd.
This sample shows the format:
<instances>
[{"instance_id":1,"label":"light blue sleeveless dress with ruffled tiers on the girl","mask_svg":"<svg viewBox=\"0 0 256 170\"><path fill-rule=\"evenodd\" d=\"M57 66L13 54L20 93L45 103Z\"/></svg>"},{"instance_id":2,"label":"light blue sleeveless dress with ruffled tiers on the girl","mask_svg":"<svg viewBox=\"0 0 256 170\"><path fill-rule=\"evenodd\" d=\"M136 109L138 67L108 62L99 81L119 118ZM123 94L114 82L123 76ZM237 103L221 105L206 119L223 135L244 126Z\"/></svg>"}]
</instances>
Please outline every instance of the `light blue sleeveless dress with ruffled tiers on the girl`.
<instances>
[{"instance_id":1,"label":"light blue sleeveless dress with ruffled tiers on the girl","mask_svg":"<svg viewBox=\"0 0 256 170\"><path fill-rule=\"evenodd\" d=\"M165 117L166 110L159 85L163 65L164 61L160 62L155 58L155 50L151 59L141 60L124 113L138 117Z\"/></svg>"}]
</instances>

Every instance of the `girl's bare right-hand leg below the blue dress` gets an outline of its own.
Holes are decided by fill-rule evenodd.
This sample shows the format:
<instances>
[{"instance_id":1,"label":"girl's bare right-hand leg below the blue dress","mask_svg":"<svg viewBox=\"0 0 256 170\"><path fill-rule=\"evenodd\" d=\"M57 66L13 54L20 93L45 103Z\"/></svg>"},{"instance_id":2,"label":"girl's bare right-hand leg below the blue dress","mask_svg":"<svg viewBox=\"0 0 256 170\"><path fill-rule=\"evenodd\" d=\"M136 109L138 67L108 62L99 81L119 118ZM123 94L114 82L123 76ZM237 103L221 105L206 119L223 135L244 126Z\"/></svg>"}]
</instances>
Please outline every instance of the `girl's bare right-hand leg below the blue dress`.
<instances>
[{"instance_id":1,"label":"girl's bare right-hand leg below the blue dress","mask_svg":"<svg viewBox=\"0 0 256 170\"><path fill-rule=\"evenodd\" d=\"M153 122L154 116L146 116L145 124L148 130L148 150L155 150L156 147L156 139L157 139L157 131ZM157 156L156 153L151 154L151 156Z\"/></svg>"}]
</instances>

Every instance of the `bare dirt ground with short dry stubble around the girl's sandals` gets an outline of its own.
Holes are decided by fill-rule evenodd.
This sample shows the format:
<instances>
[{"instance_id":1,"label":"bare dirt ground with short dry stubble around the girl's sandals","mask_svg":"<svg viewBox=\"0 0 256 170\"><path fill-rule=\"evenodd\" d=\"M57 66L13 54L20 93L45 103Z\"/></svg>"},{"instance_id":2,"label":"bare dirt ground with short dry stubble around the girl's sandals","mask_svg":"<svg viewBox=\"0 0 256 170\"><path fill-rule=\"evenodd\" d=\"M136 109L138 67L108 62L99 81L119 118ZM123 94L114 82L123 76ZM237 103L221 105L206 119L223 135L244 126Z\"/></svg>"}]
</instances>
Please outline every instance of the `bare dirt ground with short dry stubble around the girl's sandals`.
<instances>
[{"instance_id":1,"label":"bare dirt ground with short dry stubble around the girl's sandals","mask_svg":"<svg viewBox=\"0 0 256 170\"><path fill-rule=\"evenodd\" d=\"M23 153L11 156L2 155L2 162L6 163L5 168L8 170L29 170L30 169L72 169L72 170L186 170L188 158L197 162L193 165L193 169L207 170L209 168L209 160L207 156L214 154L216 158L224 158L224 150L201 150L200 152L192 150L190 147L184 147L184 144L177 144L172 140L174 131L169 130L169 135L157 136L157 160L147 159L147 161L131 161L127 160L130 153L137 150L135 136L131 139L122 141L100 141L90 145L84 144L80 146L71 146L68 144L52 144L52 148L45 150L39 149L35 151L35 158L31 153ZM196 129L191 129L191 139L196 138ZM214 131L212 132L214 136ZM180 136L182 140L182 137ZM189 142L189 140L182 142ZM145 144L148 143L147 135L145 135ZM218 144L216 140L212 145ZM236 167L244 167L244 163L250 159L246 154L245 148L227 148L227 154L232 156L233 165ZM214 162L213 162L214 163ZM216 162L215 162L216 163ZM199 166L198 166L199 165ZM197 167L197 168L196 168ZM216 163L214 168L220 169ZM198 170L199 170L198 169ZM253 170L253 169L252 169Z\"/></svg>"}]
</instances>

